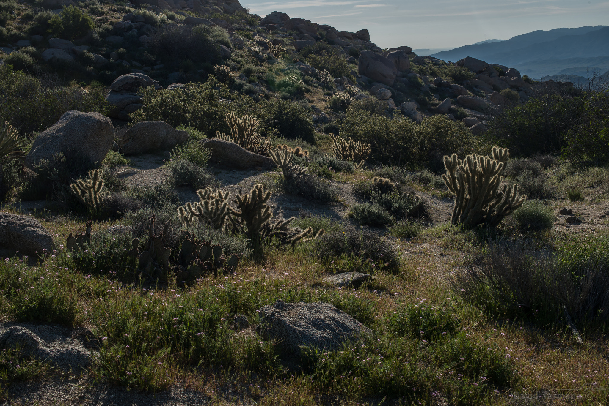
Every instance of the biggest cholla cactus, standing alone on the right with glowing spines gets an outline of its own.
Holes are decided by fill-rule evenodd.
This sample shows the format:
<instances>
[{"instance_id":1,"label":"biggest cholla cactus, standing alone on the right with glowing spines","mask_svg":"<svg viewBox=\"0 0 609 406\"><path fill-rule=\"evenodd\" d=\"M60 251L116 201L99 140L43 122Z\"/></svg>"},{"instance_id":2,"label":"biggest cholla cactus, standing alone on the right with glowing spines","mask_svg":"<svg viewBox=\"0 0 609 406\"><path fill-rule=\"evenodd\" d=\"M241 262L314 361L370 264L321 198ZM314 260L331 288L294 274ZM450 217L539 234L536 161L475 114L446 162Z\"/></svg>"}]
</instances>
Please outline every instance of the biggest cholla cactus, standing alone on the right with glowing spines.
<instances>
[{"instance_id":1,"label":"biggest cholla cactus, standing alone on the right with glowing spines","mask_svg":"<svg viewBox=\"0 0 609 406\"><path fill-rule=\"evenodd\" d=\"M518 185L504 185L505 164L510 158L508 149L493 147L493 157L468 155L465 161L457 154L444 157L446 173L442 175L446 187L455 195L451 222L454 225L496 226L519 208L525 197L518 197Z\"/></svg>"}]
</instances>

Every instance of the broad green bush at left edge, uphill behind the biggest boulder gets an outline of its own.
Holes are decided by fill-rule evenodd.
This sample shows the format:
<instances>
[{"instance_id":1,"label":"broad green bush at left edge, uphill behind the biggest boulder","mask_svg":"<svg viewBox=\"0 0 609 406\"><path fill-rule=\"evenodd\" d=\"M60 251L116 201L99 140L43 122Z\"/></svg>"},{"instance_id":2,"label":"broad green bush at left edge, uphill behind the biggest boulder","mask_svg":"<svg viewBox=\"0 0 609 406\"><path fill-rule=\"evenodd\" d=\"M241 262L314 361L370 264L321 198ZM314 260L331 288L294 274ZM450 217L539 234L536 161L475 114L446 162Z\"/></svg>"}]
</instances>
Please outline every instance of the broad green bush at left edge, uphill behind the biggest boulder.
<instances>
[{"instance_id":1,"label":"broad green bush at left edge, uphill behind the biggest boulder","mask_svg":"<svg viewBox=\"0 0 609 406\"><path fill-rule=\"evenodd\" d=\"M43 79L0 66L0 117L21 133L46 130L68 110L107 114L110 104L104 88L82 89L60 85L57 77Z\"/></svg>"}]
</instances>

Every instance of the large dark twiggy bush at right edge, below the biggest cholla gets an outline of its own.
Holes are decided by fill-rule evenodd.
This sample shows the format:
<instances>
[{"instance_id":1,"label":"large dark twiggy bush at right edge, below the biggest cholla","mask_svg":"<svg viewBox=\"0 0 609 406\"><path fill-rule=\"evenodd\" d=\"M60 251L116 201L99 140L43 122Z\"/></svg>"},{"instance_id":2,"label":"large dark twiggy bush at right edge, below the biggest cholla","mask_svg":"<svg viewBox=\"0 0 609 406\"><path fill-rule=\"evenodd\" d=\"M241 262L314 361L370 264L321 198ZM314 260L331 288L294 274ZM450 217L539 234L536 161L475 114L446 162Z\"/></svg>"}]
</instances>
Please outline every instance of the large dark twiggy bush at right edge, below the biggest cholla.
<instances>
[{"instance_id":1,"label":"large dark twiggy bush at right edge, below the biggest cholla","mask_svg":"<svg viewBox=\"0 0 609 406\"><path fill-rule=\"evenodd\" d=\"M592 255L575 269L564 267L532 241L490 243L485 256L466 256L452 280L460 296L491 313L546 323L563 306L579 322L607 320L609 262Z\"/></svg>"}]
</instances>

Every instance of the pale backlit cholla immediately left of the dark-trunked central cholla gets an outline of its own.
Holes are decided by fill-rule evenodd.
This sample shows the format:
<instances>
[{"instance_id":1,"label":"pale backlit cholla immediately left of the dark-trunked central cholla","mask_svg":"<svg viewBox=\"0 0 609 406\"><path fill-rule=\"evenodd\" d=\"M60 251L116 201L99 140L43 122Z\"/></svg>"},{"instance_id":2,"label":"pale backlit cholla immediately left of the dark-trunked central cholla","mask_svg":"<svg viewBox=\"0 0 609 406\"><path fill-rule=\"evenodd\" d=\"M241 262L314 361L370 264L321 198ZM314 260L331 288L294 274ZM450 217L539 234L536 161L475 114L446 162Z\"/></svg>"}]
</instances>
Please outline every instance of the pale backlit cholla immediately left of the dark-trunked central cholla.
<instances>
[{"instance_id":1,"label":"pale backlit cholla immediately left of the dark-trunked central cholla","mask_svg":"<svg viewBox=\"0 0 609 406\"><path fill-rule=\"evenodd\" d=\"M215 193L211 187L197 191L199 200L191 205L178 207L178 215L185 226L189 226L195 217L199 221L207 220L215 229L225 229L226 218L230 215L227 199L230 192L222 192L218 189Z\"/></svg>"}]
</instances>

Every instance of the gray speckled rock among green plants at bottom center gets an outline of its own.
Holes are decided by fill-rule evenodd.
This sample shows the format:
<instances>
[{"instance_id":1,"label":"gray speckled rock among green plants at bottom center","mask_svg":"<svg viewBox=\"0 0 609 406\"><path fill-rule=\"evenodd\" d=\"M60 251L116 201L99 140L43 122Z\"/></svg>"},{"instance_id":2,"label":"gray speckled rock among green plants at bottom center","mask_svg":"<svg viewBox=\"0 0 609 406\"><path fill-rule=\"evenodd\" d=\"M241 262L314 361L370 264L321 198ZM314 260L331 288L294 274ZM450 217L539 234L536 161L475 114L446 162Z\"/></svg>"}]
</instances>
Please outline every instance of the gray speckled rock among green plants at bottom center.
<instances>
[{"instance_id":1,"label":"gray speckled rock among green plants at bottom center","mask_svg":"<svg viewBox=\"0 0 609 406\"><path fill-rule=\"evenodd\" d=\"M286 355L297 356L300 346L330 351L371 330L329 303L283 303L259 309L261 334L275 340Z\"/></svg>"}]
</instances>

